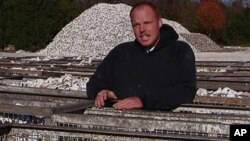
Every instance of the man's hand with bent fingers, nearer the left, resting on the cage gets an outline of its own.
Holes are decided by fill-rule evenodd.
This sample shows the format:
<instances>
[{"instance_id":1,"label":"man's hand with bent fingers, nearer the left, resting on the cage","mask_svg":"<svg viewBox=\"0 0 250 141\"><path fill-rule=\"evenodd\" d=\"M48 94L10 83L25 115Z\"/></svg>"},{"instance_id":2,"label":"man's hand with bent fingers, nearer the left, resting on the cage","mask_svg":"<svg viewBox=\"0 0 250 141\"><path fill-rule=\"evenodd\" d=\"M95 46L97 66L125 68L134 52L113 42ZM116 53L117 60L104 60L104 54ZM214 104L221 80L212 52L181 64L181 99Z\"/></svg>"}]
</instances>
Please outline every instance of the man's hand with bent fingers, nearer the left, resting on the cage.
<instances>
[{"instance_id":1,"label":"man's hand with bent fingers, nearer the left, resting on the cage","mask_svg":"<svg viewBox=\"0 0 250 141\"><path fill-rule=\"evenodd\" d=\"M95 107L102 108L107 99L117 99L117 96L110 90L101 90L95 98Z\"/></svg>"}]
</instances>

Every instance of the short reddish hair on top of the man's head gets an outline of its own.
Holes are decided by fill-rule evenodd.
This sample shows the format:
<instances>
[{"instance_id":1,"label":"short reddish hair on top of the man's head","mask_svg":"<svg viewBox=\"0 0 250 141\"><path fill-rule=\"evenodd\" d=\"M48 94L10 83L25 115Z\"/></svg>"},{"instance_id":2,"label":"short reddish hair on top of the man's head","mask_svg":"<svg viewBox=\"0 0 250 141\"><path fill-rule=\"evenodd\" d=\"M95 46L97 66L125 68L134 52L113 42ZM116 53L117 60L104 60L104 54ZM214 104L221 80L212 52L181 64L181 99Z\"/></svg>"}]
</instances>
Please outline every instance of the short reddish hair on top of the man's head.
<instances>
[{"instance_id":1,"label":"short reddish hair on top of the man's head","mask_svg":"<svg viewBox=\"0 0 250 141\"><path fill-rule=\"evenodd\" d=\"M160 18L161 15L160 15L160 12L158 11L157 7L155 6L155 4L151 3L151 2L148 2L148 1L144 1L144 2L139 2L139 3L136 3L135 5L133 5L132 9L130 10L130 13L129 13L129 16L130 18L132 18L132 13L135 9L139 8L139 7L143 7L143 6L148 6L150 7L157 18Z\"/></svg>"}]
</instances>

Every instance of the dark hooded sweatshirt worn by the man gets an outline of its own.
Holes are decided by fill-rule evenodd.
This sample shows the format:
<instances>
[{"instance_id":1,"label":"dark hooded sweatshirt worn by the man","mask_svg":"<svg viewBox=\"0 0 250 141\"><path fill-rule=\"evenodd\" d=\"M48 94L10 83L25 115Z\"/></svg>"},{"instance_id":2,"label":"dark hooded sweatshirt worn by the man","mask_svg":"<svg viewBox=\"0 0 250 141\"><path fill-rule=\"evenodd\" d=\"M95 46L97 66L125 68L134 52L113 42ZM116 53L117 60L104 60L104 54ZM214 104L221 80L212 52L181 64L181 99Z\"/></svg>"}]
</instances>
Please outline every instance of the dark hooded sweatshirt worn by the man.
<instances>
[{"instance_id":1,"label":"dark hooded sweatshirt worn by the man","mask_svg":"<svg viewBox=\"0 0 250 141\"><path fill-rule=\"evenodd\" d=\"M136 40L115 47L87 83L89 99L102 89L118 99L139 97L144 109L171 110L190 103L196 94L195 57L191 47L177 41L169 25L161 27L161 39L147 53Z\"/></svg>"}]
</instances>

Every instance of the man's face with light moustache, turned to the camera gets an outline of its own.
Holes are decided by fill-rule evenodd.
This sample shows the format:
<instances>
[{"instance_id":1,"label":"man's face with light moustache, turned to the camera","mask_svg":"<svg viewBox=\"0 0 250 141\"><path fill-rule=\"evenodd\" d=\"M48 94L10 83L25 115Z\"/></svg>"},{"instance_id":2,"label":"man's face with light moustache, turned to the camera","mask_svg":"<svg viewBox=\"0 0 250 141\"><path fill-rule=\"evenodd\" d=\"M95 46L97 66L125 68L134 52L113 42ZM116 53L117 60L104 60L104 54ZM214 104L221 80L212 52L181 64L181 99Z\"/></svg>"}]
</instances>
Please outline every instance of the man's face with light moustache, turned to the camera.
<instances>
[{"instance_id":1,"label":"man's face with light moustache, turned to the camera","mask_svg":"<svg viewBox=\"0 0 250 141\"><path fill-rule=\"evenodd\" d=\"M152 47L159 41L162 21L149 6L134 9L131 23L137 41L144 47Z\"/></svg>"}]
</instances>

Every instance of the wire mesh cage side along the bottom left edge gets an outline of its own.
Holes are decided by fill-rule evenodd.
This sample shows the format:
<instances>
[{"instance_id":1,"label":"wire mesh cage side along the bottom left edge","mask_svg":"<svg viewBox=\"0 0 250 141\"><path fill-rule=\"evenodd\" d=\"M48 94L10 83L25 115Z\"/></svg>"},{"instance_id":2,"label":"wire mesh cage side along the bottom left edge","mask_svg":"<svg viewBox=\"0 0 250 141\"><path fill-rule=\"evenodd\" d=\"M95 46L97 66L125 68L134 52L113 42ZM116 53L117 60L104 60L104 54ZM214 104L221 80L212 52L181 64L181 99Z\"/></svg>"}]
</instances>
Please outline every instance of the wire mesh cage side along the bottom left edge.
<instances>
[{"instance_id":1,"label":"wire mesh cage side along the bottom left edge","mask_svg":"<svg viewBox=\"0 0 250 141\"><path fill-rule=\"evenodd\" d=\"M128 136L91 134L78 132L49 131L39 129L12 128L0 136L0 141L162 141Z\"/></svg>"}]
</instances>

